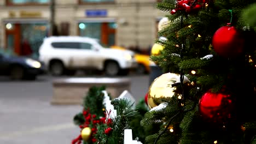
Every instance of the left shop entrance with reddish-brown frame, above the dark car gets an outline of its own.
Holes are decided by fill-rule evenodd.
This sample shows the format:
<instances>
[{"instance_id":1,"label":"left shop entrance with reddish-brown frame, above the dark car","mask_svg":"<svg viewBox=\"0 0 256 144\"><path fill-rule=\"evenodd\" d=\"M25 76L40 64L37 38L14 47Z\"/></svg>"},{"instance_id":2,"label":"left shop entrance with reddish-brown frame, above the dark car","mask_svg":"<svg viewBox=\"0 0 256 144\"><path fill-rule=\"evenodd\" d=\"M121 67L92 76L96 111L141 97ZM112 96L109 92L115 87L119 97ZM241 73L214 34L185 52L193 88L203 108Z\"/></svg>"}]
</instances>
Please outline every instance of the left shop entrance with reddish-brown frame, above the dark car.
<instances>
[{"instance_id":1,"label":"left shop entrance with reddish-brown frame, above the dark car","mask_svg":"<svg viewBox=\"0 0 256 144\"><path fill-rule=\"evenodd\" d=\"M46 23L6 23L5 51L38 58L39 46L47 36L47 26Z\"/></svg>"}]
</instances>

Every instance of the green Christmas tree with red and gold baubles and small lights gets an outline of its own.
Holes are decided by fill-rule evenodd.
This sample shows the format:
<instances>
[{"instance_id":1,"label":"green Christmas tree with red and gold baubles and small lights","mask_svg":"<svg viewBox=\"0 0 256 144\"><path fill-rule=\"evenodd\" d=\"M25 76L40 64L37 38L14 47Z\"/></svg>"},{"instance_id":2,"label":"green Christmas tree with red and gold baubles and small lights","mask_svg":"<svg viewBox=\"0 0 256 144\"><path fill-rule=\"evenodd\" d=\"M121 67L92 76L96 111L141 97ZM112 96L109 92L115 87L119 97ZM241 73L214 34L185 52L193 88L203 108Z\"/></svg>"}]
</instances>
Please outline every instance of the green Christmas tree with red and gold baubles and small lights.
<instances>
[{"instance_id":1,"label":"green Christmas tree with red and gold baubles and small lights","mask_svg":"<svg viewBox=\"0 0 256 144\"><path fill-rule=\"evenodd\" d=\"M256 143L256 1L163 0L164 75L152 83L145 143Z\"/></svg>"}]
</instances>

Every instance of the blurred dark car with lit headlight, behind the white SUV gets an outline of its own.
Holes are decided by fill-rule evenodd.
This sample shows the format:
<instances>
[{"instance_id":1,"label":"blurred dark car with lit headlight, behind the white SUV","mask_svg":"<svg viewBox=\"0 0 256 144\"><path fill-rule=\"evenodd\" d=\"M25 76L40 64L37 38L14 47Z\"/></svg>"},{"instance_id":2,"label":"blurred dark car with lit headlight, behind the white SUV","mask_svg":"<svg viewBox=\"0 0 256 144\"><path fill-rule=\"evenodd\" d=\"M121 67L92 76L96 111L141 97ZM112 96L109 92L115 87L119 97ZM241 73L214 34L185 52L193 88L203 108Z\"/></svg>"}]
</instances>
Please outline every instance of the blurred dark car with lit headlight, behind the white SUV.
<instances>
[{"instance_id":1,"label":"blurred dark car with lit headlight, behind the white SUV","mask_svg":"<svg viewBox=\"0 0 256 144\"><path fill-rule=\"evenodd\" d=\"M8 75L13 80L35 80L37 75L44 73L42 62L28 57L0 53L0 75Z\"/></svg>"}]
</instances>

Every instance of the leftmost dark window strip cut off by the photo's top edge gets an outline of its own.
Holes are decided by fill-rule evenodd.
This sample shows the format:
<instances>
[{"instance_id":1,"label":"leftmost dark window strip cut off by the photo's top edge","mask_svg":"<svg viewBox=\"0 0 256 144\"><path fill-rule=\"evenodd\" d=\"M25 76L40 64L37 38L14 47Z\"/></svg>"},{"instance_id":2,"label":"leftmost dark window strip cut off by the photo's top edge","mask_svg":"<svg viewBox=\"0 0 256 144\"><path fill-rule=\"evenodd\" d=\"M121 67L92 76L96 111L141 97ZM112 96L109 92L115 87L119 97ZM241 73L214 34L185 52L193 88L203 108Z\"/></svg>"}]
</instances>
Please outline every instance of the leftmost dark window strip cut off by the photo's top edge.
<instances>
[{"instance_id":1,"label":"leftmost dark window strip cut off by the photo's top edge","mask_svg":"<svg viewBox=\"0 0 256 144\"><path fill-rule=\"evenodd\" d=\"M49 4L50 0L7 0L8 5L19 4Z\"/></svg>"}]
</instances>

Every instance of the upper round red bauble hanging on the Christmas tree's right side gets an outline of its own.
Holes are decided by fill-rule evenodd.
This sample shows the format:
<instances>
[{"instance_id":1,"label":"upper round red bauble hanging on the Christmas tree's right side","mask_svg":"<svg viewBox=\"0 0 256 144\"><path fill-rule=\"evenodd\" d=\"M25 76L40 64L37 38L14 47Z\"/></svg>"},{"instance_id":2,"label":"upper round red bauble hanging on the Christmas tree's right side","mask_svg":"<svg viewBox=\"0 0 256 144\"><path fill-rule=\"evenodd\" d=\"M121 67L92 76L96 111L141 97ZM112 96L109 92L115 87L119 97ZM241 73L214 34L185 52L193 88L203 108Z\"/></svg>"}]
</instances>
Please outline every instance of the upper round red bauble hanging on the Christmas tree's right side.
<instances>
[{"instance_id":1,"label":"upper round red bauble hanging on the Christmas tree's right side","mask_svg":"<svg viewBox=\"0 0 256 144\"><path fill-rule=\"evenodd\" d=\"M219 56L232 58L243 52L244 39L235 27L220 27L212 37L212 46Z\"/></svg>"}]
</instances>

